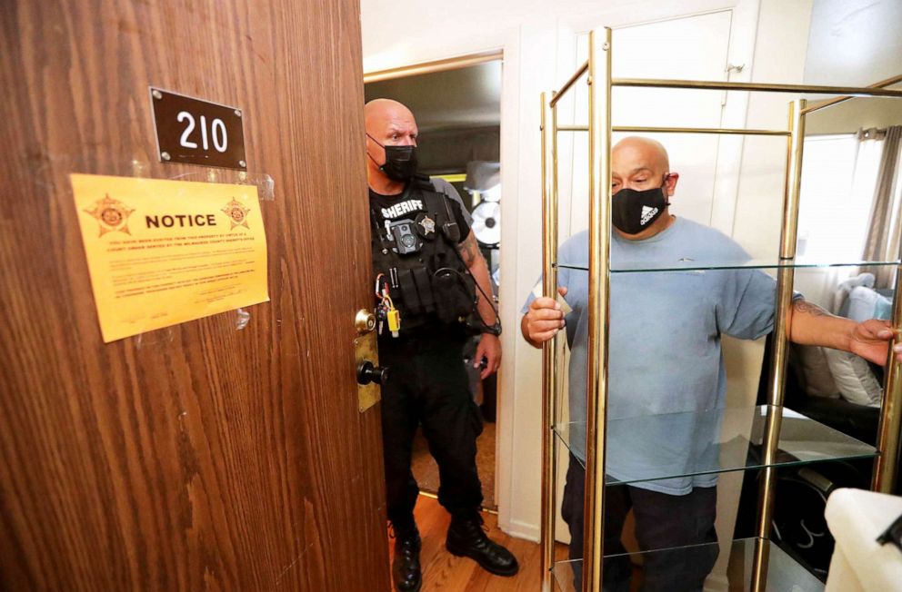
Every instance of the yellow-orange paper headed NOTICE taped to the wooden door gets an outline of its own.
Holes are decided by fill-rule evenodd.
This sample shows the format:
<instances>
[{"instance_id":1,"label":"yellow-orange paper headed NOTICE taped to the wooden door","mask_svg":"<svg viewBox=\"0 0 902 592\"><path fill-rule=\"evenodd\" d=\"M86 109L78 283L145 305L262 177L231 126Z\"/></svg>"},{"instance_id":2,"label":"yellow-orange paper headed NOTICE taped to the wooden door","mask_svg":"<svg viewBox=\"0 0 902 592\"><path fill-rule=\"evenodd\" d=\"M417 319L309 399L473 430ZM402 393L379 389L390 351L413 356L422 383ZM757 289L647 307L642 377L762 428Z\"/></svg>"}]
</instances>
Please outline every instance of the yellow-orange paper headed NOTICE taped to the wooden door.
<instances>
[{"instance_id":1,"label":"yellow-orange paper headed NOTICE taped to the wooden door","mask_svg":"<svg viewBox=\"0 0 902 592\"><path fill-rule=\"evenodd\" d=\"M70 178L105 342L269 301L256 187Z\"/></svg>"}]
</instances>

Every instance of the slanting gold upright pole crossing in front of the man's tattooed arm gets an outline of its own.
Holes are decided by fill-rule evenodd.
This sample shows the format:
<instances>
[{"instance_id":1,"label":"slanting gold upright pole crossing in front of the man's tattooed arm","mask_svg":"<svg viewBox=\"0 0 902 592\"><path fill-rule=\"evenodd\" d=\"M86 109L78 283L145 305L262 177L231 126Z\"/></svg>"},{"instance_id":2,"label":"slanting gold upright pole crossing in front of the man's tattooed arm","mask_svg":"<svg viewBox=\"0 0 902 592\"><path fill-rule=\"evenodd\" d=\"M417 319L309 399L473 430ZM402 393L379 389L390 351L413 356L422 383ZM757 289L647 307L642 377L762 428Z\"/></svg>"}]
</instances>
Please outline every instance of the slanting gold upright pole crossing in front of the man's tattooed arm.
<instances>
[{"instance_id":1,"label":"slanting gold upright pole crossing in front of the man's tattooed arm","mask_svg":"<svg viewBox=\"0 0 902 592\"><path fill-rule=\"evenodd\" d=\"M780 232L780 269L777 271L777 304L774 318L773 352L767 374L767 419L764 433L764 479L758 494L757 541L752 564L752 590L767 589L768 543L770 522L774 513L774 488L777 479L777 450L783 422L783 395L786 387L787 339L792 306L792 287L796 259L799 189L802 184L802 148L805 142L807 101L797 99L789 104L786 184L783 192L783 227Z\"/></svg>"}]
</instances>

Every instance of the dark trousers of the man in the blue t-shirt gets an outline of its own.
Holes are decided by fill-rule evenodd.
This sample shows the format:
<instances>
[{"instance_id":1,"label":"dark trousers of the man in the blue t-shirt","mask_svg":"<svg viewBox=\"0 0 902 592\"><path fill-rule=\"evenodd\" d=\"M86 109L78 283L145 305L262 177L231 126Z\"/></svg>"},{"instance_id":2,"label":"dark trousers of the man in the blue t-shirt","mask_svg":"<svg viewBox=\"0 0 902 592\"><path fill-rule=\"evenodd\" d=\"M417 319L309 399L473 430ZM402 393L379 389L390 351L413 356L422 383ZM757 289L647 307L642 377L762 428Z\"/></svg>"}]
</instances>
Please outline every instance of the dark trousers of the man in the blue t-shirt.
<instances>
[{"instance_id":1,"label":"dark trousers of the man in the blue t-shirt","mask_svg":"<svg viewBox=\"0 0 902 592\"><path fill-rule=\"evenodd\" d=\"M570 558L583 557L583 517L586 469L574 456L566 471L561 514L570 529ZM606 592L629 590L633 566L620 540L626 513L633 509L636 540L644 553L643 592L689 592L701 590L717 561L717 488L694 488L685 496L672 496L629 485L605 488L605 560L603 587ZM696 547L686 547L696 546ZM656 550L664 549L664 550ZM614 556L614 557L608 557ZM574 569L576 589L582 570Z\"/></svg>"}]
</instances>

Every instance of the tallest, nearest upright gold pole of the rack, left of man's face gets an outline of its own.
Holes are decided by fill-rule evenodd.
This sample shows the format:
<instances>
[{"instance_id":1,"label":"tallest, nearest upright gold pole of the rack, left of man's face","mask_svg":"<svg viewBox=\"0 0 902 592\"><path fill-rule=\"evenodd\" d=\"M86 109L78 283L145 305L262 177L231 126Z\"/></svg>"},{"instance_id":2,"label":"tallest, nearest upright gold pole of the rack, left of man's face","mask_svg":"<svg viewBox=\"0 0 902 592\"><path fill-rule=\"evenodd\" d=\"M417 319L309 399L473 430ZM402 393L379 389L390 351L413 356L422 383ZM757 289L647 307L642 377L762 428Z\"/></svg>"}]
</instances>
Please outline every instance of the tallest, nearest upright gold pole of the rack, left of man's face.
<instances>
[{"instance_id":1,"label":"tallest, nearest upright gold pole of the rack, left of man's face","mask_svg":"<svg viewBox=\"0 0 902 592\"><path fill-rule=\"evenodd\" d=\"M605 542L611 249L611 30L589 34L589 326L583 590L600 592Z\"/></svg>"}]
</instances>

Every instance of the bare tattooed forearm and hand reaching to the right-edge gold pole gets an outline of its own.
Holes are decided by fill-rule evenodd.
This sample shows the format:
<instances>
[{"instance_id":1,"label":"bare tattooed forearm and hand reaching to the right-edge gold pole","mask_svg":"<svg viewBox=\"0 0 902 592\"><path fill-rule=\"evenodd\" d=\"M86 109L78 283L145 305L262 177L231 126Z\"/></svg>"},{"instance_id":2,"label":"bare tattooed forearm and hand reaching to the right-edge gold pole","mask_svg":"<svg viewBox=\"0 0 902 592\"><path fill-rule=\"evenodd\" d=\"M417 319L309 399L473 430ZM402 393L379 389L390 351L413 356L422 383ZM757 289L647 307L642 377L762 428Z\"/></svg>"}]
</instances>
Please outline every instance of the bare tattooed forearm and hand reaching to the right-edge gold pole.
<instances>
[{"instance_id":1,"label":"bare tattooed forearm and hand reaching to the right-edge gold pole","mask_svg":"<svg viewBox=\"0 0 902 592\"><path fill-rule=\"evenodd\" d=\"M844 319L804 299L793 301L789 309L787 338L794 343L851 351L882 366L887 363L887 342L892 337L889 321ZM902 361L902 347L898 345L896 358Z\"/></svg>"}]
</instances>

